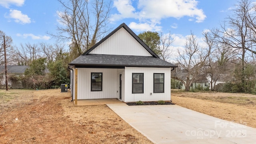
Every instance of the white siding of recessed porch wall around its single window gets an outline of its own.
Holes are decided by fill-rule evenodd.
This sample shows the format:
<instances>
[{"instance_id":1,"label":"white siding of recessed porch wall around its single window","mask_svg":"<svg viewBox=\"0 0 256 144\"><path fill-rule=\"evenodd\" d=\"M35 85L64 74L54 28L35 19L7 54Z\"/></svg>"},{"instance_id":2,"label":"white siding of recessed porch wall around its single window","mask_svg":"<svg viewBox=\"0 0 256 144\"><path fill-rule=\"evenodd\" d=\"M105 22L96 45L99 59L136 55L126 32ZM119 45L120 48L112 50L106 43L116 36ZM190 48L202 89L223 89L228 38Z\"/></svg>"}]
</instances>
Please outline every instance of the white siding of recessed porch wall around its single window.
<instances>
[{"instance_id":1,"label":"white siding of recessed porch wall around its single window","mask_svg":"<svg viewBox=\"0 0 256 144\"><path fill-rule=\"evenodd\" d=\"M77 99L116 98L117 69L77 68ZM91 73L102 72L102 91L91 92Z\"/></svg>"}]
</instances>

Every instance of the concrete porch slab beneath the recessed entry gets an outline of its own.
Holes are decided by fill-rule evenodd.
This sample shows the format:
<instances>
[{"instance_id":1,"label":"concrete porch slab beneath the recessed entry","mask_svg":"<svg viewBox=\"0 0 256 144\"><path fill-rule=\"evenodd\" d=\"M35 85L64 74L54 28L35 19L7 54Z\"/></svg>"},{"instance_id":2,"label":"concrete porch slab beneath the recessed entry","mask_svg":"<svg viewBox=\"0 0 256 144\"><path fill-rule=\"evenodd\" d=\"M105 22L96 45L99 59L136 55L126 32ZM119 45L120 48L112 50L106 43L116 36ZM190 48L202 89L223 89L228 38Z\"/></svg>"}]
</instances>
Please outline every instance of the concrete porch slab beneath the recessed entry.
<instances>
[{"instance_id":1,"label":"concrete porch slab beneath the recessed entry","mask_svg":"<svg viewBox=\"0 0 256 144\"><path fill-rule=\"evenodd\" d=\"M74 101L75 103L75 101ZM91 99L91 100L77 100L77 106L90 106L90 105L102 105L102 104L122 104L121 100L117 98L106 99Z\"/></svg>"}]
</instances>

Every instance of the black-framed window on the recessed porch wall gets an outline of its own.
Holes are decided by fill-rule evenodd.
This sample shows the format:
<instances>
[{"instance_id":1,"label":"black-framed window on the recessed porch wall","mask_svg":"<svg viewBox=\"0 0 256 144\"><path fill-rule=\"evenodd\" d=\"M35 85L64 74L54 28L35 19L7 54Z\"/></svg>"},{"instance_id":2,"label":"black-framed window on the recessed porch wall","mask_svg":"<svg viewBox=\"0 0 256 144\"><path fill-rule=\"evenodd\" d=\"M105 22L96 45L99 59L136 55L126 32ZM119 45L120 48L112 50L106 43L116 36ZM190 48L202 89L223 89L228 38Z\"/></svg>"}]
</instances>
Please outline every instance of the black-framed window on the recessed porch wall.
<instances>
[{"instance_id":1,"label":"black-framed window on the recessed porch wall","mask_svg":"<svg viewBox=\"0 0 256 144\"><path fill-rule=\"evenodd\" d=\"M91 73L91 91L102 91L102 72Z\"/></svg>"}]
</instances>

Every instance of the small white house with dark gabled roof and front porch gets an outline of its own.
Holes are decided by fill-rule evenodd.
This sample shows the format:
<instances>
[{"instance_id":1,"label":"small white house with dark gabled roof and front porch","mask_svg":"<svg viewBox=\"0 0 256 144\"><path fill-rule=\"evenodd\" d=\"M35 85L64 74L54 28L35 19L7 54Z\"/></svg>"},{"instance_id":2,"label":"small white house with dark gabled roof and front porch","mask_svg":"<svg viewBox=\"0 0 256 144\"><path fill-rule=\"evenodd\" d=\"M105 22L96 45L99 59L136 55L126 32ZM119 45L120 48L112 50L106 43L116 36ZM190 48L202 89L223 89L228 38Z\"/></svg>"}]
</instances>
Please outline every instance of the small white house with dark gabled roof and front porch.
<instances>
[{"instance_id":1,"label":"small white house with dark gabled roof and front porch","mask_svg":"<svg viewBox=\"0 0 256 144\"><path fill-rule=\"evenodd\" d=\"M177 67L161 60L124 23L69 65L73 100L124 102L170 101L171 70Z\"/></svg>"}]
</instances>

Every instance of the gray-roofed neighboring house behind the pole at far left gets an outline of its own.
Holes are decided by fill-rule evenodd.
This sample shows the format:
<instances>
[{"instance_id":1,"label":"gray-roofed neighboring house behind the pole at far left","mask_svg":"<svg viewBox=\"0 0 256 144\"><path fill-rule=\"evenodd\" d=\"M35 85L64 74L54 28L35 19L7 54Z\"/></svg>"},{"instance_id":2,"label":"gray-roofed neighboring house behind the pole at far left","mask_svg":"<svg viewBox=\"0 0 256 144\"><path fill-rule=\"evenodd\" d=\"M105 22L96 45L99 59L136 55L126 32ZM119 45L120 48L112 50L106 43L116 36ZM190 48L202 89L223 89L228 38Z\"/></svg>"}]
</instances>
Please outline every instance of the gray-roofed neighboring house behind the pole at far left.
<instances>
[{"instance_id":1,"label":"gray-roofed neighboring house behind the pole at far left","mask_svg":"<svg viewBox=\"0 0 256 144\"><path fill-rule=\"evenodd\" d=\"M12 74L15 76L24 75L24 72L27 68L29 68L29 66L7 66L7 74L8 76ZM5 67L4 66L0 66L0 82L1 82L1 85L5 85ZM23 88L22 82L20 81L8 80L8 85L11 86L12 88Z\"/></svg>"}]
</instances>

